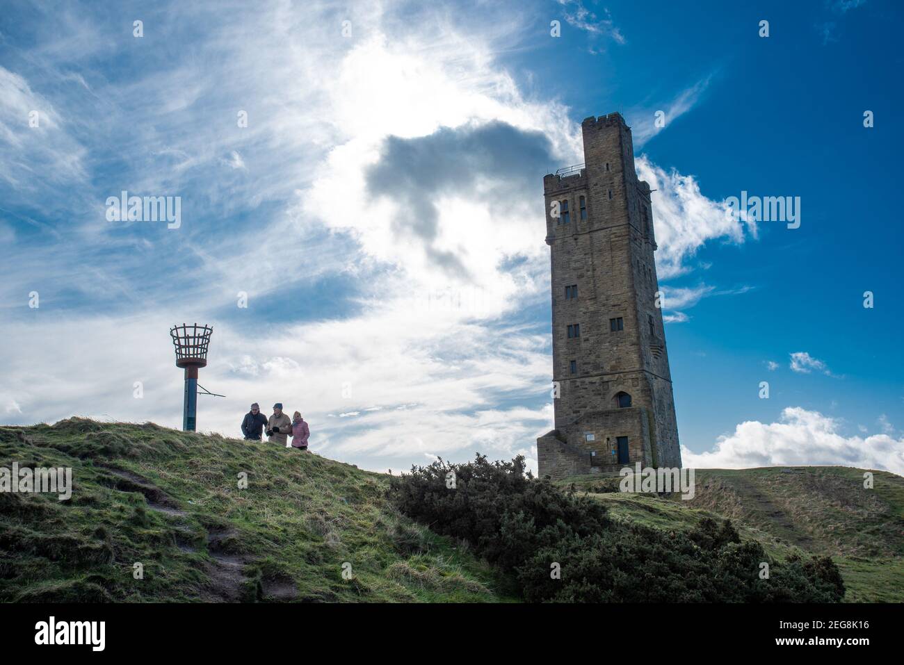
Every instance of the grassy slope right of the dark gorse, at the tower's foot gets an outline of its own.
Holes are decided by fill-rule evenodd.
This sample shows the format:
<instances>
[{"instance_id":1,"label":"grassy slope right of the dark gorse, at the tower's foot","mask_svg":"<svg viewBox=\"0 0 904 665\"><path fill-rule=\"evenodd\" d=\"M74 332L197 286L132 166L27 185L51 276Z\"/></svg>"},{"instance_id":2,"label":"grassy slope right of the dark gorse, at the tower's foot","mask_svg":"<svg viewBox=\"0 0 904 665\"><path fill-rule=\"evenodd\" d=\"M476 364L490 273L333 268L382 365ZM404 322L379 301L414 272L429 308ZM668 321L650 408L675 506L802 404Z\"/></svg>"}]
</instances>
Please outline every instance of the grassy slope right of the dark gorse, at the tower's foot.
<instances>
[{"instance_id":1,"label":"grassy slope right of the dark gorse, at the tower's foot","mask_svg":"<svg viewBox=\"0 0 904 665\"><path fill-rule=\"evenodd\" d=\"M847 587L846 602L904 602L904 478L843 466L703 469L695 496L612 492L617 478L580 476L557 482L604 501L613 515L660 529L691 529L704 517L729 518L742 538L767 553L833 557Z\"/></svg>"}]
</instances>

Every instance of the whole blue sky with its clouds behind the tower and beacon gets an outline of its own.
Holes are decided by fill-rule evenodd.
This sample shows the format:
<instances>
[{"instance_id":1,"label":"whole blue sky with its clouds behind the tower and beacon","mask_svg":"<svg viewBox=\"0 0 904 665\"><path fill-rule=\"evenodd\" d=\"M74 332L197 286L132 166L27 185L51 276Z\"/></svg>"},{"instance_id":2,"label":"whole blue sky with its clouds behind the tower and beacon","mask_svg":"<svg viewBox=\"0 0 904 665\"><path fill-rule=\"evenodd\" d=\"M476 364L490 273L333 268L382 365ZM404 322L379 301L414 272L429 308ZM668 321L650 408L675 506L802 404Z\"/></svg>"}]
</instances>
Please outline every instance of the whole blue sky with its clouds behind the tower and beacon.
<instances>
[{"instance_id":1,"label":"whole blue sky with its clouds behind the tower and beacon","mask_svg":"<svg viewBox=\"0 0 904 665\"><path fill-rule=\"evenodd\" d=\"M685 461L901 473L901 14L6 3L0 422L179 426L167 330L198 321L201 383L227 395L201 398L202 430L282 401L365 468L532 459L551 426L542 175L619 110L657 189ZM181 197L181 226L108 221L122 190ZM741 191L799 196L800 228L726 220Z\"/></svg>"}]
</instances>

